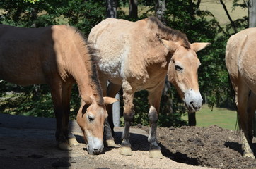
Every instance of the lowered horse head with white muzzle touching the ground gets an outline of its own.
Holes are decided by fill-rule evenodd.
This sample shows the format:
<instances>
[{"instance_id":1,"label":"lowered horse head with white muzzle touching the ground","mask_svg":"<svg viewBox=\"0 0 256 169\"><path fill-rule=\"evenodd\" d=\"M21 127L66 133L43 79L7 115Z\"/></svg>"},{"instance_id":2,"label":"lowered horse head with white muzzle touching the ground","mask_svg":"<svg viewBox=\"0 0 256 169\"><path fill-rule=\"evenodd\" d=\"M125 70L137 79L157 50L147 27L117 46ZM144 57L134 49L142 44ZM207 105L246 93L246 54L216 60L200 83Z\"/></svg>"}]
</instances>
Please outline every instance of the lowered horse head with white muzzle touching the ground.
<instances>
[{"instance_id":1,"label":"lowered horse head with white muzzle touching the ground","mask_svg":"<svg viewBox=\"0 0 256 169\"><path fill-rule=\"evenodd\" d=\"M83 130L88 154L100 154L103 151L104 122L107 118L105 104L118 101L115 98L104 97L104 104L98 104L93 96L87 101L81 100L81 107L76 116L78 125Z\"/></svg>"}]
</instances>

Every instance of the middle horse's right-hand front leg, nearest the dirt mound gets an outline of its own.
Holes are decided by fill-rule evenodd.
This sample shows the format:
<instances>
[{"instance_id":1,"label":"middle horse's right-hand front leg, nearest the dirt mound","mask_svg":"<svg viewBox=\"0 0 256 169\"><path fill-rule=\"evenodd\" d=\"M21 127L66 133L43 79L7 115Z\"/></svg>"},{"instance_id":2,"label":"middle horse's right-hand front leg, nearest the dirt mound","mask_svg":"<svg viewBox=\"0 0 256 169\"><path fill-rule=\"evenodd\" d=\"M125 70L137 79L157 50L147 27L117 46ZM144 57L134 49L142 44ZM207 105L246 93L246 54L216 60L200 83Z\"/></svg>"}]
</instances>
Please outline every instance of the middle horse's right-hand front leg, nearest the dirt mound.
<instances>
[{"instance_id":1,"label":"middle horse's right-hand front leg, nearest the dirt mound","mask_svg":"<svg viewBox=\"0 0 256 169\"><path fill-rule=\"evenodd\" d=\"M157 144L156 139L156 127L157 127L157 121L158 121L158 112L160 107L160 101L161 101L161 94L163 87L158 87L155 91L149 92L149 120L150 120L150 130L149 130L149 137L148 141L151 144L151 148L149 151L149 156L151 158L163 158L163 155L161 153L161 148Z\"/></svg>"}]
</instances>

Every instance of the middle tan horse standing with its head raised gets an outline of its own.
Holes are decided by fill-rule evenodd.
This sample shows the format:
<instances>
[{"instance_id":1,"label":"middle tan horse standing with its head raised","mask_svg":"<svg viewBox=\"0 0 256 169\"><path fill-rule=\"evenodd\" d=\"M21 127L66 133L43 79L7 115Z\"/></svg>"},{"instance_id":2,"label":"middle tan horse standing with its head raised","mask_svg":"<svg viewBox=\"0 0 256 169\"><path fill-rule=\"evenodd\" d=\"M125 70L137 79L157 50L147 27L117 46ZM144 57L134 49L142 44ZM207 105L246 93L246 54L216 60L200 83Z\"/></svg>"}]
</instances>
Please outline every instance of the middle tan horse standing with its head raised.
<instances>
[{"instance_id":1,"label":"middle tan horse standing with its head raised","mask_svg":"<svg viewBox=\"0 0 256 169\"><path fill-rule=\"evenodd\" d=\"M150 104L150 156L162 158L156 141L156 126L165 77L168 75L188 110L199 111L202 96L197 81L200 61L196 52L209 43L190 44L186 35L165 27L154 17L135 23L108 18L93 27L88 42L98 49L95 56L103 94L115 96L121 87L123 89L125 128L120 154L132 154L129 127L134 117L134 93L145 89L149 92ZM107 80L110 81L108 87ZM110 115L110 110L108 113ZM105 132L107 144L112 145L109 128L105 128Z\"/></svg>"}]
</instances>

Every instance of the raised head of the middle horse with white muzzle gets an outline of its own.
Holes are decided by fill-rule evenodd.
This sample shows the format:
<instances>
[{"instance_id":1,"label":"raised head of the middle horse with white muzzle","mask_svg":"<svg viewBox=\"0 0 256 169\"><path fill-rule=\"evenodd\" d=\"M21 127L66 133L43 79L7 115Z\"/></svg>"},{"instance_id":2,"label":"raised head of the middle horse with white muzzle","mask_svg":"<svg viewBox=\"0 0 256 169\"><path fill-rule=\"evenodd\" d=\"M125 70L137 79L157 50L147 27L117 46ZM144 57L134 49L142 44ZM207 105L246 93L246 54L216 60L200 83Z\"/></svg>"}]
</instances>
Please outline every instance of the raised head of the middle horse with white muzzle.
<instances>
[{"instance_id":1,"label":"raised head of the middle horse with white muzzle","mask_svg":"<svg viewBox=\"0 0 256 169\"><path fill-rule=\"evenodd\" d=\"M170 51L172 57L168 65L168 80L178 90L180 97L190 112L199 111L202 106L202 96L199 92L197 69L201 64L197 58L197 51L209 46L210 43L193 43L190 49L178 42L161 39Z\"/></svg>"}]
</instances>

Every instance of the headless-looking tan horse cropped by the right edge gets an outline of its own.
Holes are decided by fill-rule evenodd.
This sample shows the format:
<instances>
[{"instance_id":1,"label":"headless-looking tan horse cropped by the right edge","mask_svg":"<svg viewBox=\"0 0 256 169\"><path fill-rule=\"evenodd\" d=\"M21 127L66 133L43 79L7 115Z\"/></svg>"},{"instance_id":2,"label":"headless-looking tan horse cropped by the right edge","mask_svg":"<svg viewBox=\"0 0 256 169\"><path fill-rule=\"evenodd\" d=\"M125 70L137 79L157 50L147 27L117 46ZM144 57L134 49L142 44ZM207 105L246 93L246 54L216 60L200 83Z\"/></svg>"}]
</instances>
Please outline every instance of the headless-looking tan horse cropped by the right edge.
<instances>
[{"instance_id":1,"label":"headless-looking tan horse cropped by the right edge","mask_svg":"<svg viewBox=\"0 0 256 169\"><path fill-rule=\"evenodd\" d=\"M243 156L255 158L252 143L252 120L256 110L256 28L238 32L228 39L226 67L235 90L238 125L243 133Z\"/></svg>"}]
</instances>

